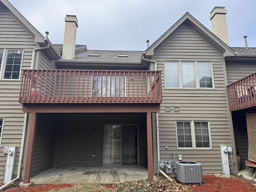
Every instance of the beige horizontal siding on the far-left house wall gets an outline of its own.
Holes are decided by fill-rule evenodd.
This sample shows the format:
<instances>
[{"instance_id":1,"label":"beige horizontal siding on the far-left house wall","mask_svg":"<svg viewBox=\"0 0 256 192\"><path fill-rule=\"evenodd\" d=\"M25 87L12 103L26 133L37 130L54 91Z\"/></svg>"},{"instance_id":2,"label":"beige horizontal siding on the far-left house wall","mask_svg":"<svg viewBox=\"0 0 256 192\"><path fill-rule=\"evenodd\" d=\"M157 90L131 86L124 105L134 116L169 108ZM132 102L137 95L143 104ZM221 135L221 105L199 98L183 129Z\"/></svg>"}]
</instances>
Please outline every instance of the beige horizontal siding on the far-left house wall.
<instances>
[{"instance_id":1,"label":"beige horizontal siding on the far-left house wall","mask_svg":"<svg viewBox=\"0 0 256 192\"><path fill-rule=\"evenodd\" d=\"M32 50L36 47L33 36L16 20L2 4L0 4L0 49L22 49L24 56L22 68L30 68ZM2 64L4 61L2 62ZM3 69L4 66L2 65ZM17 146L14 170L18 169L20 143L24 124L22 105L18 102L20 80L0 80L0 118L4 118L0 148L0 180L3 179L6 156L3 148ZM24 165L24 164L23 164Z\"/></svg>"}]
</instances>

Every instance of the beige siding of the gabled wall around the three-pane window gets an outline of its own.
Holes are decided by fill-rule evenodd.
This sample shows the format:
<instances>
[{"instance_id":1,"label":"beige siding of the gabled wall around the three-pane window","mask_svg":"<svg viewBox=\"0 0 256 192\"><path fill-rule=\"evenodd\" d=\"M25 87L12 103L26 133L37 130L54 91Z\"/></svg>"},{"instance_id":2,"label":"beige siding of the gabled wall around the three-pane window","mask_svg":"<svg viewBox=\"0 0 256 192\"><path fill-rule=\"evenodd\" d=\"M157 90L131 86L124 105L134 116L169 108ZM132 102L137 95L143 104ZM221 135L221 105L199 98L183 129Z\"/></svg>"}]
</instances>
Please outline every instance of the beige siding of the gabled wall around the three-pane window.
<instances>
[{"instance_id":1,"label":"beige siding of the gabled wall around the three-pane window","mask_svg":"<svg viewBox=\"0 0 256 192\"><path fill-rule=\"evenodd\" d=\"M222 54L191 26L183 24L154 50L152 59L157 62L157 70L163 71L163 102L159 112L161 160L172 160L174 152L182 154L183 160L202 163L204 174L221 173L220 145L231 146ZM212 62L215 88L166 89L164 62L168 61ZM166 111L166 106L170 106L171 110ZM178 106L180 111L174 112L174 106ZM177 150L175 122L192 120L210 122L212 149Z\"/></svg>"}]
</instances>

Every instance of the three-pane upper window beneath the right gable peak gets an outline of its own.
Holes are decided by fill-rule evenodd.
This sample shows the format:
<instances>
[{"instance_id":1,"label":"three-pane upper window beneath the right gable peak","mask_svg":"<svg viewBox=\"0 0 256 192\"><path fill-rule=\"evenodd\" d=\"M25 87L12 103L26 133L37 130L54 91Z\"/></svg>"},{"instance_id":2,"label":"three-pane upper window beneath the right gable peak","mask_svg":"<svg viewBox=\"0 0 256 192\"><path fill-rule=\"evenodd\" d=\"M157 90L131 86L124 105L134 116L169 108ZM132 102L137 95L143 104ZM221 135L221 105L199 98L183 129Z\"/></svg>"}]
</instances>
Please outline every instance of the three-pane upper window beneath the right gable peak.
<instances>
[{"instance_id":1,"label":"three-pane upper window beneath the right gable peak","mask_svg":"<svg viewBox=\"0 0 256 192\"><path fill-rule=\"evenodd\" d=\"M213 88L211 62L165 62L166 88Z\"/></svg>"}]
</instances>

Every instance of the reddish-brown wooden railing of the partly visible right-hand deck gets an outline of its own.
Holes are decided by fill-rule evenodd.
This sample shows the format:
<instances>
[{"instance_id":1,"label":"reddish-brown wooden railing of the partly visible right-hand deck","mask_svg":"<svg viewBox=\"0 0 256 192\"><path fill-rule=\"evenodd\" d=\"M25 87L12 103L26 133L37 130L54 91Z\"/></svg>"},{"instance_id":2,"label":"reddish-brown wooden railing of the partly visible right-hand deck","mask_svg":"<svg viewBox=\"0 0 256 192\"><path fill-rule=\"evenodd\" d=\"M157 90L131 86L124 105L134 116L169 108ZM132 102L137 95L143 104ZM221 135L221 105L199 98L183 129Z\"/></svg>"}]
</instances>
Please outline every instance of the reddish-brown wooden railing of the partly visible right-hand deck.
<instances>
[{"instance_id":1,"label":"reddish-brown wooden railing of the partly visible right-hand deck","mask_svg":"<svg viewBox=\"0 0 256 192\"><path fill-rule=\"evenodd\" d=\"M230 111L256 106L256 73L227 86Z\"/></svg>"}]
</instances>

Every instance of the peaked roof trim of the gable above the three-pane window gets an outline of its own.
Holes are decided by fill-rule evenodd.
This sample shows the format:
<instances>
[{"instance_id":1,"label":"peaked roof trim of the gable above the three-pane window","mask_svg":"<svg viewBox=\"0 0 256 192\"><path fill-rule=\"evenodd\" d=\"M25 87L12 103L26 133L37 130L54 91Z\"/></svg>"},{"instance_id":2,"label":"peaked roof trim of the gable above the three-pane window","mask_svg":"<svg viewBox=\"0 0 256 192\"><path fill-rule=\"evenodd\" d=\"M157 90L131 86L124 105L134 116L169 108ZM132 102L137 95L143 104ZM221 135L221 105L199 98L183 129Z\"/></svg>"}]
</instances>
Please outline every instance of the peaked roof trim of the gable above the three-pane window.
<instances>
[{"instance_id":1,"label":"peaked roof trim of the gable above the three-pane window","mask_svg":"<svg viewBox=\"0 0 256 192\"><path fill-rule=\"evenodd\" d=\"M198 20L192 17L188 12L182 16L171 28L169 28L156 42L154 42L146 51L145 56L153 56L154 50L164 41L168 36L170 36L179 26L183 23L188 23L196 32L204 36L213 46L215 46L223 56L234 56L234 51L227 46L222 40L210 32L206 27L204 27Z\"/></svg>"}]
</instances>

